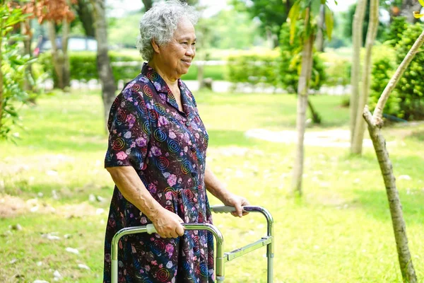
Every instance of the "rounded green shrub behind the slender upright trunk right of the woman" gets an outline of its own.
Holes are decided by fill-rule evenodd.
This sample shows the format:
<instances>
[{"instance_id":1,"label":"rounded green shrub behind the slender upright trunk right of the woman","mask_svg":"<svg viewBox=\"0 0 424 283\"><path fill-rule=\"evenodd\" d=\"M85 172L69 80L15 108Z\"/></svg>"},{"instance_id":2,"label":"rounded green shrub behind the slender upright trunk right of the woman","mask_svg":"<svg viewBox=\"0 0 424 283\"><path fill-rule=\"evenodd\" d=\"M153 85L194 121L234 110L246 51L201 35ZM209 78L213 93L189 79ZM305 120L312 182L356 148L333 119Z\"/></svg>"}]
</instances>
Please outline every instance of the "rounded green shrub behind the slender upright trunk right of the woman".
<instances>
[{"instance_id":1,"label":"rounded green shrub behind the slender upright trunk right of the woman","mask_svg":"<svg viewBox=\"0 0 424 283\"><path fill-rule=\"evenodd\" d=\"M298 25L300 25L299 22ZM300 28L296 28L295 31L296 35L293 37L293 42L290 44L290 27L288 23L283 23L283 26L281 27L281 62L279 64L280 80L283 88L287 89L289 92L297 91L302 67L302 54L300 53L302 50L302 43L300 41L302 38L302 30ZM324 71L322 59L319 58L318 54L313 54L313 60L310 88L317 90L326 80L326 72Z\"/></svg>"}]
</instances>

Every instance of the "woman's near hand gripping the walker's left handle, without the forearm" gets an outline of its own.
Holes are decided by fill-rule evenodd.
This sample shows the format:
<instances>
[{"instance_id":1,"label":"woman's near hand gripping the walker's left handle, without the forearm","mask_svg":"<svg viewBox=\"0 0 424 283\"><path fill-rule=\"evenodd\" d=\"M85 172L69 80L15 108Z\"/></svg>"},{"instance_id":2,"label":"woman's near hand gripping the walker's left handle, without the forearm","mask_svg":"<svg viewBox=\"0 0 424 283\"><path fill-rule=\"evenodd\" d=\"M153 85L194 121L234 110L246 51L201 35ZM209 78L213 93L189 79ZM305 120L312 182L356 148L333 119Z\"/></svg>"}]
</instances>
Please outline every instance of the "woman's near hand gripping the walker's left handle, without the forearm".
<instances>
[{"instance_id":1,"label":"woman's near hand gripping the walker's left handle, without the forearm","mask_svg":"<svg viewBox=\"0 0 424 283\"><path fill-rule=\"evenodd\" d=\"M152 222L162 238L178 238L178 236L184 235L184 226L181 225L184 221L177 214L165 208L158 211Z\"/></svg>"}]
</instances>

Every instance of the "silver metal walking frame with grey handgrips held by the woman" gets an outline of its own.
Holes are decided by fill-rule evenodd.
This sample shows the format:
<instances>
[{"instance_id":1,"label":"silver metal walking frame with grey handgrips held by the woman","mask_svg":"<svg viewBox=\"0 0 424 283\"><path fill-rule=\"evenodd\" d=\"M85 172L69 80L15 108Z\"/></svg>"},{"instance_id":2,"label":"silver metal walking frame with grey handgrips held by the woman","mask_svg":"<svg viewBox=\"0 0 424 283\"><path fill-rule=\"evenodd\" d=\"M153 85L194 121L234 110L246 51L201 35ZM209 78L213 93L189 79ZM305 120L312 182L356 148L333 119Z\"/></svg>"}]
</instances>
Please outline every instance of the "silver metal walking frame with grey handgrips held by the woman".
<instances>
[{"instance_id":1,"label":"silver metal walking frame with grey handgrips held by the woman","mask_svg":"<svg viewBox=\"0 0 424 283\"><path fill-rule=\"evenodd\" d=\"M227 207L224 205L217 205L214 207L211 207L212 212L216 213L230 213L235 212L234 207ZM267 278L268 283L273 282L273 219L271 214L268 212L268 210L264 209L263 207L254 207L254 206L246 206L243 207L244 212L260 212L261 214L264 214L267 224L268 224L268 232L266 236L262 237L258 241L255 241L254 243L249 243L246 246L243 246L242 248L237 248L235 250L232 250L231 252L224 253L223 252L223 243L224 238L222 233L219 231L216 226L213 226L212 224L198 224L198 223L187 223L182 224L186 230L206 230L213 234L216 240L216 266L215 266L215 273L216 273L216 282L222 283L224 282L224 263L228 262L230 260L234 260L235 258L238 258L242 255L245 255L252 250L257 250L258 248L261 248L263 246L266 246L266 258L268 259L268 268L267 268ZM114 237L112 238L112 250L111 250L111 258L112 258L112 283L118 283L118 243L119 239L122 238L122 236L126 236L129 234L134 233L155 233L155 227L153 224L147 224L145 226L136 226L136 227L129 227L119 230Z\"/></svg>"}]
</instances>

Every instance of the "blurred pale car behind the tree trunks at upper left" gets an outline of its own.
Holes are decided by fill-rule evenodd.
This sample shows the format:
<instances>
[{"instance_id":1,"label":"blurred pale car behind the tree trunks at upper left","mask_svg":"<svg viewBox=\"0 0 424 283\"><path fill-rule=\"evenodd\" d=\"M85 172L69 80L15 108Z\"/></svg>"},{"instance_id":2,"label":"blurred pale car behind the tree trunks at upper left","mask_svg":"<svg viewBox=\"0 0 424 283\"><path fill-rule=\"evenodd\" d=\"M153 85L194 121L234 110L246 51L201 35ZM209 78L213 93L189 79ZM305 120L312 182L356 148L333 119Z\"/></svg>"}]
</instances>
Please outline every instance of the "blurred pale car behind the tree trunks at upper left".
<instances>
[{"instance_id":1,"label":"blurred pale car behind the tree trunks at upper left","mask_svg":"<svg viewBox=\"0 0 424 283\"><path fill-rule=\"evenodd\" d=\"M61 50L61 37L56 38L57 48ZM52 50L52 42L48 37L38 37L34 56ZM97 40L94 37L70 36L68 39L68 51L97 51Z\"/></svg>"}]
</instances>

